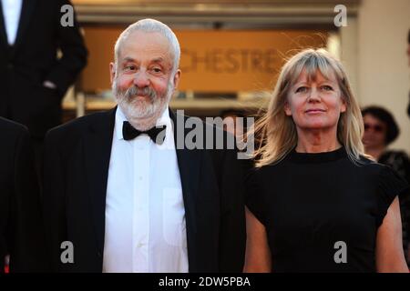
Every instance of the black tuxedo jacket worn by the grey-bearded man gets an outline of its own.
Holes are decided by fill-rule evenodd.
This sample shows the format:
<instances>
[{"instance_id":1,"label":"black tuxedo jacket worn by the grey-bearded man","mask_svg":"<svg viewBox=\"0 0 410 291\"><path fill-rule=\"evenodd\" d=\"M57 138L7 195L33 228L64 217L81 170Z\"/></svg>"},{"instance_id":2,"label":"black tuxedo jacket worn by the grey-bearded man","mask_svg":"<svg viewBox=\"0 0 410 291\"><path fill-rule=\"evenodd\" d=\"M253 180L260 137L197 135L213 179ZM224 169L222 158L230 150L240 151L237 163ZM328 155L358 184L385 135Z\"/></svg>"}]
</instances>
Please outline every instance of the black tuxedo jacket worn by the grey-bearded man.
<instances>
[{"instance_id":1,"label":"black tuxedo jacket worn by the grey-bearded man","mask_svg":"<svg viewBox=\"0 0 410 291\"><path fill-rule=\"evenodd\" d=\"M46 135L44 216L55 271L102 271L115 111L78 118ZM176 138L180 126L177 119L185 118L171 113ZM215 128L204 127L207 131ZM183 136L190 131L182 130ZM190 272L241 272L246 230L236 151L184 147L176 152ZM73 243L74 264L60 261L63 241Z\"/></svg>"}]
</instances>

